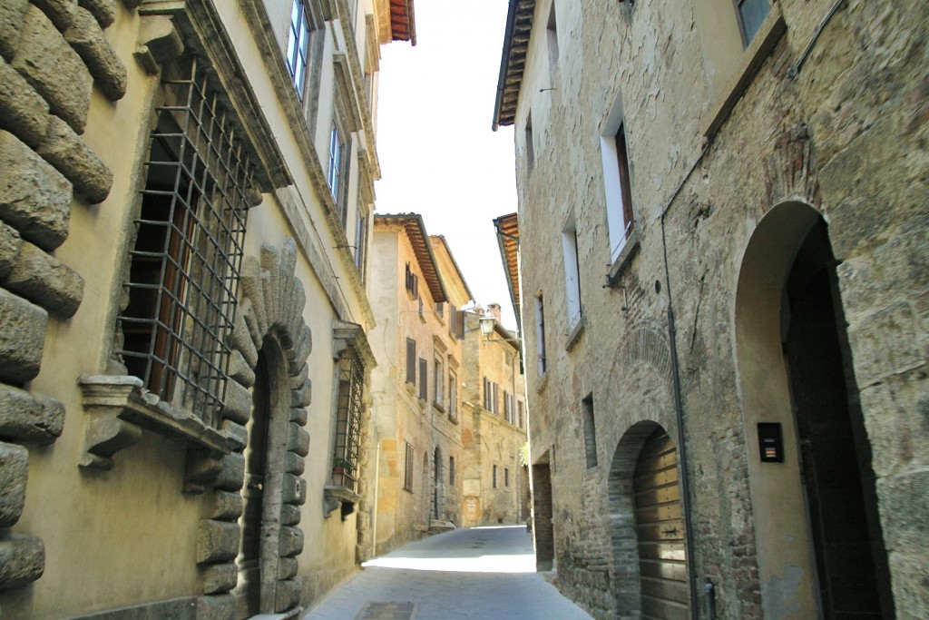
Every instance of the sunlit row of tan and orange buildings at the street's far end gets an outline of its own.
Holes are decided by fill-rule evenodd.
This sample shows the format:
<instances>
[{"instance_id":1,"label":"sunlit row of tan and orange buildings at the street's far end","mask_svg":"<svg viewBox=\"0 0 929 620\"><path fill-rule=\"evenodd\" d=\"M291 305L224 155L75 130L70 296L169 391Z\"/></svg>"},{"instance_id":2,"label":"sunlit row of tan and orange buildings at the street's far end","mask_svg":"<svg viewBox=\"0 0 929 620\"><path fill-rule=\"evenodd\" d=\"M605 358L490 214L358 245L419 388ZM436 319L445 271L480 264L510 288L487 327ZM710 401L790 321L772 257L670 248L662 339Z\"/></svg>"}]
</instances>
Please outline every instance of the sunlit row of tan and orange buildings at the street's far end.
<instances>
[{"instance_id":1,"label":"sunlit row of tan and orange buildings at the street's far end","mask_svg":"<svg viewBox=\"0 0 929 620\"><path fill-rule=\"evenodd\" d=\"M371 270L377 552L450 528L524 520L516 336L498 323L499 310L496 319L462 310L473 301L464 275L419 215L374 216ZM493 324L492 337L481 335L479 319Z\"/></svg>"}]
</instances>

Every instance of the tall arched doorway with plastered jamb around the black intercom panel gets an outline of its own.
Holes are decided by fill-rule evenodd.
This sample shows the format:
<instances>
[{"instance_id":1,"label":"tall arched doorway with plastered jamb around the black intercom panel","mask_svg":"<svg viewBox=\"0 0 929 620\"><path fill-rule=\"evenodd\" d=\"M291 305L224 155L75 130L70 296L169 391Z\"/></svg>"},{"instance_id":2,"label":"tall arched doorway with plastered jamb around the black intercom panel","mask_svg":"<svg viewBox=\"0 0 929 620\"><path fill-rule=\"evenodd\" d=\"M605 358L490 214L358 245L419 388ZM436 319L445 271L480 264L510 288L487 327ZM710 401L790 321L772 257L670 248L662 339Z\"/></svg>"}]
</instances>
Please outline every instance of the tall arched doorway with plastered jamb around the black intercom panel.
<instances>
[{"instance_id":1,"label":"tall arched doorway with plastered jamb around the black intercom panel","mask_svg":"<svg viewBox=\"0 0 929 620\"><path fill-rule=\"evenodd\" d=\"M765 615L893 617L870 444L826 222L779 204L739 270L736 355ZM759 425L779 429L762 461Z\"/></svg>"}]
</instances>

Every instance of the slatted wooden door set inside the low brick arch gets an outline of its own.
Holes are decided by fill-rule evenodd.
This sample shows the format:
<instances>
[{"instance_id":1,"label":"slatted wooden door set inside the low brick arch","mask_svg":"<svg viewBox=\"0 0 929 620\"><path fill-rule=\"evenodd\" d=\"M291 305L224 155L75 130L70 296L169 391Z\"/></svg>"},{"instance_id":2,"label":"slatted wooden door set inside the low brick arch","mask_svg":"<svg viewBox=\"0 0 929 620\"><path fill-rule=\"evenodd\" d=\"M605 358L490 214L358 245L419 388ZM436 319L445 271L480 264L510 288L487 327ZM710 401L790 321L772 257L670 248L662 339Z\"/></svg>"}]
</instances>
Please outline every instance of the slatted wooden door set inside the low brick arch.
<instances>
[{"instance_id":1,"label":"slatted wooden door set inside the low brick arch","mask_svg":"<svg viewBox=\"0 0 929 620\"><path fill-rule=\"evenodd\" d=\"M677 449L664 429L652 433L642 447L633 484L642 618L686 619L687 554Z\"/></svg>"}]
</instances>

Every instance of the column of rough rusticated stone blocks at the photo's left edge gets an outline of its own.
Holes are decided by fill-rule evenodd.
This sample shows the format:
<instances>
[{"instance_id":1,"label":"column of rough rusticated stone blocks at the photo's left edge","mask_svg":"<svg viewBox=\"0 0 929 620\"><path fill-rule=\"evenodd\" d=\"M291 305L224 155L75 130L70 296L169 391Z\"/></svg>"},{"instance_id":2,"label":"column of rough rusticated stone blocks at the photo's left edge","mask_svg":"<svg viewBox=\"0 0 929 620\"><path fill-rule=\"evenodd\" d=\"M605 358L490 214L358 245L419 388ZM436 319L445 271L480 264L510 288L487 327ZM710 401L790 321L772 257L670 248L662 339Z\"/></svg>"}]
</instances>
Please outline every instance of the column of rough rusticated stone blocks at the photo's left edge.
<instances>
[{"instance_id":1,"label":"column of rough rusticated stone blocks at the photo's left edge","mask_svg":"<svg viewBox=\"0 0 929 620\"><path fill-rule=\"evenodd\" d=\"M0 4L0 590L38 579L45 547L12 534L26 496L27 445L55 442L64 407L26 388L49 321L73 316L84 280L55 250L72 208L103 202L108 167L81 139L96 87L121 99L126 71L106 39L114 0Z\"/></svg>"}]
</instances>

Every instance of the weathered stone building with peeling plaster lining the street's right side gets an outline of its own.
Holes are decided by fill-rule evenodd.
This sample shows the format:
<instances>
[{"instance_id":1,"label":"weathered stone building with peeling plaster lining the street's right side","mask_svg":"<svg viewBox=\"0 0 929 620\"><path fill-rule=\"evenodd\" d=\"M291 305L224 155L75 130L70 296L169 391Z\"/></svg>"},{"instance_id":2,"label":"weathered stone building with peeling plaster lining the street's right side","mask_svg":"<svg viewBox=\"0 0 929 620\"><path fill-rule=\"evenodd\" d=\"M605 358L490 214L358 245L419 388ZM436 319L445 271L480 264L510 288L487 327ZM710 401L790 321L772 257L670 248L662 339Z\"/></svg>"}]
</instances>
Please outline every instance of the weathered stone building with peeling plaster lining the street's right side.
<instances>
[{"instance_id":1,"label":"weathered stone building with peeling plaster lining the street's right side","mask_svg":"<svg viewBox=\"0 0 929 620\"><path fill-rule=\"evenodd\" d=\"M540 566L597 618L918 618L929 8L512 0Z\"/></svg>"}]
</instances>

